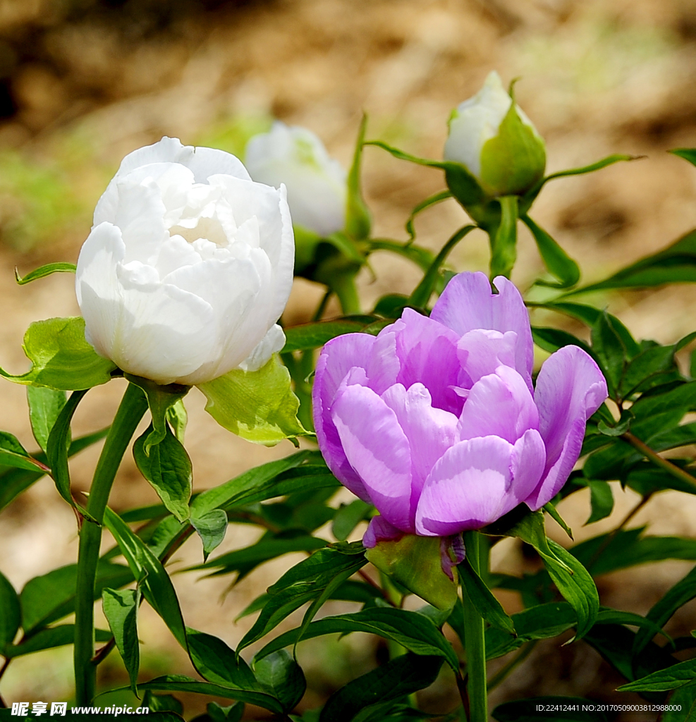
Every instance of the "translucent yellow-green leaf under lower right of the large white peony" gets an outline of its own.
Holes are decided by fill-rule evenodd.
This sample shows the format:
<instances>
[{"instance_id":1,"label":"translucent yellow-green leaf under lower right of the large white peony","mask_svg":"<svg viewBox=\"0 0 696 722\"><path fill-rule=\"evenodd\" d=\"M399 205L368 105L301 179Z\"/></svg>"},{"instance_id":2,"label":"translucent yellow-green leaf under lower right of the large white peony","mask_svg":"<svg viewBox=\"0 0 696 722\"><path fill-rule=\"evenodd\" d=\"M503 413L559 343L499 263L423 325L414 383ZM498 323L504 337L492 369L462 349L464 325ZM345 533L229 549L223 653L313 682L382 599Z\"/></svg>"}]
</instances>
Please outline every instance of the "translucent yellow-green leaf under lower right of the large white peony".
<instances>
[{"instance_id":1,"label":"translucent yellow-green leaf under lower right of the large white peony","mask_svg":"<svg viewBox=\"0 0 696 722\"><path fill-rule=\"evenodd\" d=\"M208 399L206 412L248 441L274 445L307 433L297 420L300 402L290 388L290 373L277 354L258 371L234 369L199 388Z\"/></svg>"}]
</instances>

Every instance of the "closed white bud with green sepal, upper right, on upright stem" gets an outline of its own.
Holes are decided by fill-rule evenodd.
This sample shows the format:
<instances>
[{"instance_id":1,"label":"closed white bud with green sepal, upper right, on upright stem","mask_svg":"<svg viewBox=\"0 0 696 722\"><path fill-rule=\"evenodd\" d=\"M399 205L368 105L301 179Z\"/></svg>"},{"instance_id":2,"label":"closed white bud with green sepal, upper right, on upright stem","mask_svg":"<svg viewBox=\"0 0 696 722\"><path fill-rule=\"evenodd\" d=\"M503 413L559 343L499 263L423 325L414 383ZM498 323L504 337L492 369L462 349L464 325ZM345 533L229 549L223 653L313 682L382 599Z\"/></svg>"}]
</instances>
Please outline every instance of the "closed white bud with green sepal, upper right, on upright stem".
<instances>
[{"instance_id":1,"label":"closed white bud with green sepal, upper right, on upright stem","mask_svg":"<svg viewBox=\"0 0 696 722\"><path fill-rule=\"evenodd\" d=\"M445 160L461 163L488 196L521 196L544 175L544 141L492 71L453 110Z\"/></svg>"}]
</instances>

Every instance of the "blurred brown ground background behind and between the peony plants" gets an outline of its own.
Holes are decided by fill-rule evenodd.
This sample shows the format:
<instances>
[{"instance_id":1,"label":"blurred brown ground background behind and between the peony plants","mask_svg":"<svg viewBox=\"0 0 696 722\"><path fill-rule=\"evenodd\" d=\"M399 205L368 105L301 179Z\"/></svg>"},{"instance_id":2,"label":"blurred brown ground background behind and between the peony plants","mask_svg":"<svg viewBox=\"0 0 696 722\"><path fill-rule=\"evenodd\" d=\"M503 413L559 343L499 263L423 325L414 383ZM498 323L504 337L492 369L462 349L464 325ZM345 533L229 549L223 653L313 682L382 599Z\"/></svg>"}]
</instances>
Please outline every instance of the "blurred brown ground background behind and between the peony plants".
<instances>
[{"instance_id":1,"label":"blurred brown ground background behind and between the peony plants","mask_svg":"<svg viewBox=\"0 0 696 722\"><path fill-rule=\"evenodd\" d=\"M580 261L586 281L696 225L696 169L666 154L696 146L693 0L0 0L0 365L25 370L21 340L31 321L77 313L71 277L18 287L12 269L77 258L95 201L127 152L167 134L243 155L248 137L277 117L315 131L347 165L365 110L368 136L441 157L451 108L476 92L491 69L504 82L521 77L517 100L547 140L549 170L613 152L648 156L549 184L534 208L537 222ZM375 148L365 151L364 178L375 235L391 238L405 239L409 210L443 188L435 170ZM437 249L463 220L447 201L422 215L418 242ZM513 279L524 288L541 264L527 235L520 246ZM451 261L457 270L485 269L485 237L469 236ZM373 267L376 280L361 278L366 309L384 292L409 292L419 280L417 269L393 256L375 254ZM297 282L285 321L307 320L321 293ZM693 287L600 302L638 338L671 342L696 329ZM106 425L121 392L118 382L91 391L76 432ZM0 427L33 448L24 389L4 383L2 399ZM187 405L187 448L199 489L292 451L289 443L266 449L232 437L202 412L196 390ZM88 487L97 451L75 461L77 489ZM583 529L588 499L576 497L562 508L576 539L612 526L635 503L617 489L612 518ZM113 505L154 500L126 460ZM693 535L696 504L676 492L661 495L632 524L646 521L656 534ZM0 539L0 570L17 588L73 562L77 552L74 518L48 479L2 513ZM230 527L222 549L251 541L248 529ZM179 565L200 553L190 541ZM502 544L494 560L505 570L523 563L513 544ZM231 590L229 578L176 576L186 622L234 646L249 624L235 625L236 614L294 561L265 565ZM689 566L666 562L609 575L599 580L603 601L645 613ZM512 596L501 599L514 611ZM687 605L674 630L696 626L692 612ZM155 615L144 609L142 619L143 677L190 672ZM309 707L375 664L371 643L360 635L342 645L305 643L300 661L310 675ZM541 644L495 692L494 703L588 690L609 699L619 679L607 669L583 643L562 651L558 643ZM10 702L68 698L70 675L71 651L63 648L14 662L0 689ZM124 680L114 653L103 666L103 684ZM447 710L456 703L452 694L443 676L422 698ZM201 709L196 700L186 703L188 716Z\"/></svg>"}]
</instances>

